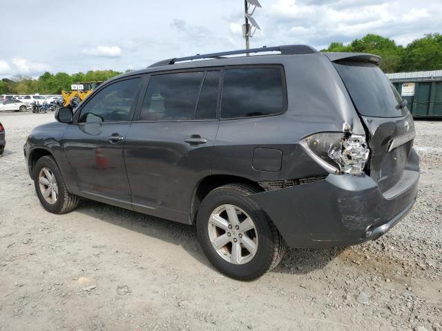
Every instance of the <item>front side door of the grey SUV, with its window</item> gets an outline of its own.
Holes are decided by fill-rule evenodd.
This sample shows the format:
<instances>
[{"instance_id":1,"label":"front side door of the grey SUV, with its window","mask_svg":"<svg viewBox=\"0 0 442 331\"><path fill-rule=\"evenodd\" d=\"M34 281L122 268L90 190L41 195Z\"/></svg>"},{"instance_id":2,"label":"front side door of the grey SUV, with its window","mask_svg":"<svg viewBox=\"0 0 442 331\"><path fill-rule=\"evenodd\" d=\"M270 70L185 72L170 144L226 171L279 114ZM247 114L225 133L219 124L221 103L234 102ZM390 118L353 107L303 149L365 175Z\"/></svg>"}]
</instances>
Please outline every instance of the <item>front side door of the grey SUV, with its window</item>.
<instances>
[{"instance_id":1,"label":"front side door of the grey SUV, with its window","mask_svg":"<svg viewBox=\"0 0 442 331\"><path fill-rule=\"evenodd\" d=\"M124 143L131 126L141 77L111 83L86 99L63 139L77 194L130 207Z\"/></svg>"}]
</instances>

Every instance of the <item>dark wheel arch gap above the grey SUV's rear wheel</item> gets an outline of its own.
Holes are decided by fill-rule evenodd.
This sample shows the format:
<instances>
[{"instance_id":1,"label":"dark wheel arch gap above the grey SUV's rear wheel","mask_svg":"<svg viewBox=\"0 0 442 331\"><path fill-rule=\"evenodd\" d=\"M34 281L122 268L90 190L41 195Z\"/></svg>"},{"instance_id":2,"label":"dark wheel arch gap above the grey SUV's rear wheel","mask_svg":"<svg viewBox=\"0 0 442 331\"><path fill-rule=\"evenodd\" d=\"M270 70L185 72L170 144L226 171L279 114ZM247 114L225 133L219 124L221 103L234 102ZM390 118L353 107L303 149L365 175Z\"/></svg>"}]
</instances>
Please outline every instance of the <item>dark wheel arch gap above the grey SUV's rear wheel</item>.
<instances>
[{"instance_id":1,"label":"dark wheel arch gap above the grey SUV's rear wheel","mask_svg":"<svg viewBox=\"0 0 442 331\"><path fill-rule=\"evenodd\" d=\"M256 188L257 190L264 191L264 189L258 183L256 183L256 181L251 181L245 177L233 176L229 174L211 174L201 179L197 185L195 185L189 212L189 223L195 223L201 201L204 199L204 197L206 197L207 194L209 194L209 192L215 190L215 188L219 188L220 186L232 183L247 184L253 188Z\"/></svg>"}]
</instances>

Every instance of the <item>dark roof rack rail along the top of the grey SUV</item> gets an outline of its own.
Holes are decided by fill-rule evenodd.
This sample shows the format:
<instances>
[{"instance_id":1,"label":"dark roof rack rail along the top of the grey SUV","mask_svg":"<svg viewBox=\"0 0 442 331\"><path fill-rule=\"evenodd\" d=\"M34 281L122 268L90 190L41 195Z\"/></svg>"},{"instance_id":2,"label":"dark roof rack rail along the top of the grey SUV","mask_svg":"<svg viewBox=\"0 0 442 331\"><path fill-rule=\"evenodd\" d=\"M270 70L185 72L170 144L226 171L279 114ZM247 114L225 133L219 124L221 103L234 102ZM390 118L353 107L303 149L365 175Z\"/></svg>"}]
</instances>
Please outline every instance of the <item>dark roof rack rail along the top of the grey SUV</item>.
<instances>
[{"instance_id":1,"label":"dark roof rack rail along the top of the grey SUV","mask_svg":"<svg viewBox=\"0 0 442 331\"><path fill-rule=\"evenodd\" d=\"M282 55L288 55L288 54L311 54L311 53L316 53L318 51L313 47L307 45L283 45L283 46L273 46L273 47L263 46L261 48L251 48L249 50L229 50L227 52L196 54L193 55L192 57L173 57L172 59L166 59L155 62L151 64L151 66L148 66L147 68L169 66L171 64L181 61L191 61L196 59L224 59L224 57L227 55L261 53L261 52L281 52Z\"/></svg>"}]
</instances>

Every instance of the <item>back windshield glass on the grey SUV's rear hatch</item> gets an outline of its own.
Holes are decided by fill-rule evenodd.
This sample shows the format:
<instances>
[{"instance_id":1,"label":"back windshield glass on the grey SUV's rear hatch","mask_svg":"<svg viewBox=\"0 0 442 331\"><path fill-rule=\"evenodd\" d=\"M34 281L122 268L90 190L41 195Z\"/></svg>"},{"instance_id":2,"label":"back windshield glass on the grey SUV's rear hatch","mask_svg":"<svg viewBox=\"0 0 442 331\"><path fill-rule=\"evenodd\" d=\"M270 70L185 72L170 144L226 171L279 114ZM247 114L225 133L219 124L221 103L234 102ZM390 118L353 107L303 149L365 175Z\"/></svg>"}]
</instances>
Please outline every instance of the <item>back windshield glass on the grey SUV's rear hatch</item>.
<instances>
[{"instance_id":1,"label":"back windshield glass on the grey SUV's rear hatch","mask_svg":"<svg viewBox=\"0 0 442 331\"><path fill-rule=\"evenodd\" d=\"M378 66L372 63L334 63L359 114L368 117L402 117L402 98Z\"/></svg>"}]
</instances>

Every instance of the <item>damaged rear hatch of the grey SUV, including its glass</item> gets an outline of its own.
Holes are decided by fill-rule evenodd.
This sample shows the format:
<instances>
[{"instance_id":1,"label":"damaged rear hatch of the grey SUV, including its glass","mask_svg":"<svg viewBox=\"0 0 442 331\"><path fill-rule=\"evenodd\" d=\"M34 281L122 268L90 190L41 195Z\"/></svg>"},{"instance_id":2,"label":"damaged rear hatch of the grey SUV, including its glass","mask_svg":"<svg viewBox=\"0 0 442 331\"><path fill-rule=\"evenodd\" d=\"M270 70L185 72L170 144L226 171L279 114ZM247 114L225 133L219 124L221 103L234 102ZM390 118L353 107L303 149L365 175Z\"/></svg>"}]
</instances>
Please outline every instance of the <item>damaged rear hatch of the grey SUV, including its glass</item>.
<instances>
[{"instance_id":1,"label":"damaged rear hatch of the grey SUV, including its glass","mask_svg":"<svg viewBox=\"0 0 442 331\"><path fill-rule=\"evenodd\" d=\"M416 133L410 112L376 59L350 57L334 61L334 66L369 133L370 176L387 195L406 175Z\"/></svg>"}]
</instances>

